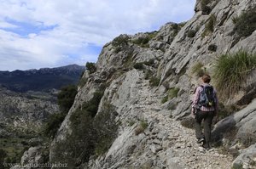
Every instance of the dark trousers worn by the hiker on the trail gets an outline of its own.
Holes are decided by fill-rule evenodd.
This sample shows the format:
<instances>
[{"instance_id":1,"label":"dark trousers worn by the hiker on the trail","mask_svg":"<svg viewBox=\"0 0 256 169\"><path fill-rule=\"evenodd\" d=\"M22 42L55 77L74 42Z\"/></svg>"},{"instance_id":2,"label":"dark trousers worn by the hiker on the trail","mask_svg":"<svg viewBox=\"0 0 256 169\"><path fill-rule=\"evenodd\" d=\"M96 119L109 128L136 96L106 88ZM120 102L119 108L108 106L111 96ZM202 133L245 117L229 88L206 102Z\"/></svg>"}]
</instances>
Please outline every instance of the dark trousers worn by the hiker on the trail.
<instances>
[{"instance_id":1,"label":"dark trousers worn by the hiker on the trail","mask_svg":"<svg viewBox=\"0 0 256 169\"><path fill-rule=\"evenodd\" d=\"M211 127L212 119L214 116L213 111L198 111L195 115L195 137L205 138L207 144L211 141ZM201 121L204 120L204 132L201 131Z\"/></svg>"}]
</instances>

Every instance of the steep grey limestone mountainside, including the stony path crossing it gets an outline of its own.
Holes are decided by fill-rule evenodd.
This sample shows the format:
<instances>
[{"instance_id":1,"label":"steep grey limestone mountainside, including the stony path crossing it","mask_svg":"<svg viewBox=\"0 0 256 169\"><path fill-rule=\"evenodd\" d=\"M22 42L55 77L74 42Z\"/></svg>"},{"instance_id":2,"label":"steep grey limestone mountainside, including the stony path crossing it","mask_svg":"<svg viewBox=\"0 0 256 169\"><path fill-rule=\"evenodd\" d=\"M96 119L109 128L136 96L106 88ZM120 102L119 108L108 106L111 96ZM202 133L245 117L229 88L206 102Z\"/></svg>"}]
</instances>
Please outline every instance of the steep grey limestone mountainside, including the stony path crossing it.
<instances>
[{"instance_id":1,"label":"steep grey limestone mountainside, including the stony path crossing it","mask_svg":"<svg viewBox=\"0 0 256 169\"><path fill-rule=\"evenodd\" d=\"M196 63L201 62L211 73L221 54L241 48L256 53L256 31L246 37L234 31L234 18L255 5L253 0L197 1L195 15L186 23L121 35L106 44L96 72L84 73L86 84L79 87L73 107L51 144L50 162L66 161L73 168L255 168L253 70L235 96L221 100L224 106L239 105L241 109L215 125L212 138L215 144L223 145L221 148L201 149L195 144L193 130L177 121L189 118L191 91L198 85L198 76L191 72ZM98 98L98 91L103 92L98 109L91 111L88 103L95 103L91 100ZM88 138L96 133L90 132L90 121L94 126L97 117L108 110L106 104L113 105L117 114L114 123L119 127L110 131L117 134L109 149L97 154L103 142L89 144ZM113 124L110 117L106 124ZM81 119L84 121L78 122ZM83 123L89 126L81 126ZM79 139L77 129L90 137ZM250 147L241 145L241 136L249 140ZM231 149L236 152L234 162Z\"/></svg>"}]
</instances>

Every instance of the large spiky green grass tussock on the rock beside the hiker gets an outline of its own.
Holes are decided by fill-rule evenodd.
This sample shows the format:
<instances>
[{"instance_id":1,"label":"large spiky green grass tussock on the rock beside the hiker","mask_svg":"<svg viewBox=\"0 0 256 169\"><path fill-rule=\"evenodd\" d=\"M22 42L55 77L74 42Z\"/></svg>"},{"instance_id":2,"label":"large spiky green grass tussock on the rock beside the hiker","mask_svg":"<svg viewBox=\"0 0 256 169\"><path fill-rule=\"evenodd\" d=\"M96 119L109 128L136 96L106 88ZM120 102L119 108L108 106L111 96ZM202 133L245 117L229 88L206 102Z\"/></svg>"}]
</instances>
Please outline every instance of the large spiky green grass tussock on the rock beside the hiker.
<instances>
[{"instance_id":1,"label":"large spiky green grass tussock on the rock beside the hiker","mask_svg":"<svg viewBox=\"0 0 256 169\"><path fill-rule=\"evenodd\" d=\"M247 81L247 75L255 67L256 54L248 54L243 50L218 57L213 77L220 96L228 98L239 91L241 84Z\"/></svg>"}]
</instances>

